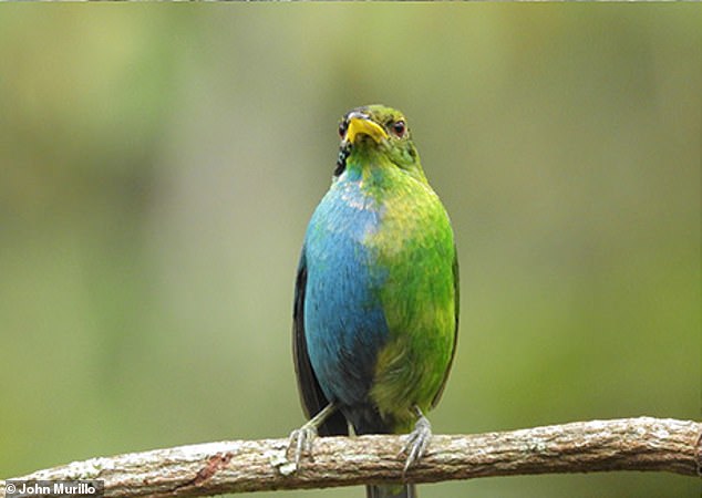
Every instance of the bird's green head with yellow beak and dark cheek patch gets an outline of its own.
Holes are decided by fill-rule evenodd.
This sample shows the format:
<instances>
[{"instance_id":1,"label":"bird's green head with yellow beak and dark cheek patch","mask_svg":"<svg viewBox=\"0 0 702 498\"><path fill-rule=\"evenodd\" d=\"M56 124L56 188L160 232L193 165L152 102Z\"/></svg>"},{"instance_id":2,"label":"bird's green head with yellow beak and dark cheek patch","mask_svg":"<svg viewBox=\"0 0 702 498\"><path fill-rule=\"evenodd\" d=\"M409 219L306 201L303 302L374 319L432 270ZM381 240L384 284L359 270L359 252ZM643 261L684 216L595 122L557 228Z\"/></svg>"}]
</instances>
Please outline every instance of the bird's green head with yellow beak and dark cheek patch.
<instances>
[{"instance_id":1,"label":"bird's green head with yellow beak and dark cheek patch","mask_svg":"<svg viewBox=\"0 0 702 498\"><path fill-rule=\"evenodd\" d=\"M400 111L378 104L351 110L339 123L339 136L334 176L340 176L351 160L394 166L426 181L407 122Z\"/></svg>"}]
</instances>

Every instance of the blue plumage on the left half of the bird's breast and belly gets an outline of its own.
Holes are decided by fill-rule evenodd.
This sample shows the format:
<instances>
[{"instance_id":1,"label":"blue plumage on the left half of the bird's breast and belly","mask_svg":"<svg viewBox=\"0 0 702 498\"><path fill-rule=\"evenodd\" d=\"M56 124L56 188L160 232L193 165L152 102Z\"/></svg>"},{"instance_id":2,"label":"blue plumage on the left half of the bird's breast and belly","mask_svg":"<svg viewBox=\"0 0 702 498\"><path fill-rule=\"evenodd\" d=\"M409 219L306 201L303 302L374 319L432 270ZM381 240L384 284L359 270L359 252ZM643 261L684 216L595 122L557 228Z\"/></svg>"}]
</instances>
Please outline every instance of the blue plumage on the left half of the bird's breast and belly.
<instances>
[{"instance_id":1,"label":"blue plumage on the left half of the bird's breast and belly","mask_svg":"<svg viewBox=\"0 0 702 498\"><path fill-rule=\"evenodd\" d=\"M364 243L379 222L379 209L360 181L344 178L318 206L304 243L310 362L324 396L348 406L357 427L372 416L363 404L389 333L378 295L386 271Z\"/></svg>"}]
</instances>

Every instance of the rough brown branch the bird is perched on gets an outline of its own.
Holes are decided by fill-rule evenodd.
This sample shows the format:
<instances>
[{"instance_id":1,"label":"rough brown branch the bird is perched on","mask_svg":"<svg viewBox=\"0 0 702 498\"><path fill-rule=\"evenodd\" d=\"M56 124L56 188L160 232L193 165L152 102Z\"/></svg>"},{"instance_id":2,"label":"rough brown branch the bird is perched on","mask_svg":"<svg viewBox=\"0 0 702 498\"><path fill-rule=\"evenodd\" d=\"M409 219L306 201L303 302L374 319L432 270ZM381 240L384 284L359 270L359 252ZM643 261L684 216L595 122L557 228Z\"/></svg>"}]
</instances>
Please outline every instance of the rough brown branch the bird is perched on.
<instances>
[{"instance_id":1,"label":"rough brown branch the bird is perched on","mask_svg":"<svg viewBox=\"0 0 702 498\"><path fill-rule=\"evenodd\" d=\"M702 475L702 423L624 418L467 436L436 435L407 480L654 470ZM403 436L324 437L299 468L287 439L234 440L132 453L18 479L103 479L106 497L200 497L402 479ZM0 497L6 483L0 481Z\"/></svg>"}]
</instances>

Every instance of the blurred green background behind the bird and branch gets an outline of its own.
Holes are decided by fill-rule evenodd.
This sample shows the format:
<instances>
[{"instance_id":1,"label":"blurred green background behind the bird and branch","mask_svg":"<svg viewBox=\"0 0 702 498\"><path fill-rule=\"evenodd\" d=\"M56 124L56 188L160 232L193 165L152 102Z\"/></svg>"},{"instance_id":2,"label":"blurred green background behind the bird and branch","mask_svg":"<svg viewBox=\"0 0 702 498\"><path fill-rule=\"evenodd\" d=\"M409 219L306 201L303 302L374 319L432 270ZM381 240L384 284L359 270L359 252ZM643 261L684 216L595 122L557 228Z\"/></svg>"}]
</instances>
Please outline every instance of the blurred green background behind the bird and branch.
<instances>
[{"instance_id":1,"label":"blurred green background behind the bird and branch","mask_svg":"<svg viewBox=\"0 0 702 498\"><path fill-rule=\"evenodd\" d=\"M0 477L302 424L338 118L409 116L462 271L431 419L700 419L700 6L0 8ZM682 497L663 474L430 497ZM360 488L258 494L360 497Z\"/></svg>"}]
</instances>

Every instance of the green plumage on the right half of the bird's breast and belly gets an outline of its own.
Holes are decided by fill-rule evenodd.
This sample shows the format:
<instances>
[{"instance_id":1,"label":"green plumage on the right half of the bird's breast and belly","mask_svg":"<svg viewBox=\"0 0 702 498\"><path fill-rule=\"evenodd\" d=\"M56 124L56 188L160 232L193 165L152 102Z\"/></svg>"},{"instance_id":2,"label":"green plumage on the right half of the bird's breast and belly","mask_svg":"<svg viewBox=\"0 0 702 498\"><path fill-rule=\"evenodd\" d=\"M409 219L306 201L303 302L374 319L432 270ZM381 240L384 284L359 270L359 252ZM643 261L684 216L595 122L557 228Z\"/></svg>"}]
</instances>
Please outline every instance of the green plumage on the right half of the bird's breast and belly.
<instances>
[{"instance_id":1,"label":"green plumage on the right half of the bird's breast and belly","mask_svg":"<svg viewBox=\"0 0 702 498\"><path fill-rule=\"evenodd\" d=\"M389 155L372 162L351 155L374 200L383 206L382 229L367 239L379 268L388 271L380 291L390 339L380 350L371 398L395 433L411 429L412 406L426 412L440 393L455 346L456 255L451 224L422 174L398 168Z\"/></svg>"}]
</instances>

